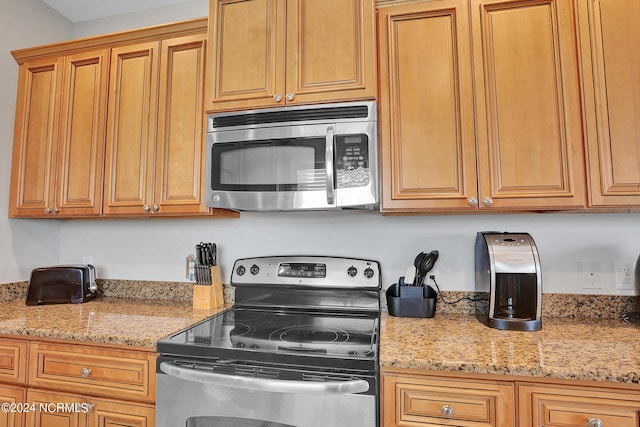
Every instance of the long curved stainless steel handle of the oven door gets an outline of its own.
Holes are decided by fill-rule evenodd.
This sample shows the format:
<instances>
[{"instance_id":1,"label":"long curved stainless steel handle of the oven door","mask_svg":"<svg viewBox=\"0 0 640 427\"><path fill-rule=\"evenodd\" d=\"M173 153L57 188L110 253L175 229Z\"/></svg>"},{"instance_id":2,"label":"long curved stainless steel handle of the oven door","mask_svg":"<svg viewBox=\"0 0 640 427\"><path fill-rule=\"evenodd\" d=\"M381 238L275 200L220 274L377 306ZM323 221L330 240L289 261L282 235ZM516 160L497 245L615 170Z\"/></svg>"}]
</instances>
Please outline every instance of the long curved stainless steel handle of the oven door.
<instances>
[{"instance_id":1,"label":"long curved stainless steel handle of the oven door","mask_svg":"<svg viewBox=\"0 0 640 427\"><path fill-rule=\"evenodd\" d=\"M181 380L256 391L310 394L356 394L369 391L369 383L358 379L328 382L275 380L205 372L176 366L171 362L160 363L160 370Z\"/></svg>"}]
</instances>

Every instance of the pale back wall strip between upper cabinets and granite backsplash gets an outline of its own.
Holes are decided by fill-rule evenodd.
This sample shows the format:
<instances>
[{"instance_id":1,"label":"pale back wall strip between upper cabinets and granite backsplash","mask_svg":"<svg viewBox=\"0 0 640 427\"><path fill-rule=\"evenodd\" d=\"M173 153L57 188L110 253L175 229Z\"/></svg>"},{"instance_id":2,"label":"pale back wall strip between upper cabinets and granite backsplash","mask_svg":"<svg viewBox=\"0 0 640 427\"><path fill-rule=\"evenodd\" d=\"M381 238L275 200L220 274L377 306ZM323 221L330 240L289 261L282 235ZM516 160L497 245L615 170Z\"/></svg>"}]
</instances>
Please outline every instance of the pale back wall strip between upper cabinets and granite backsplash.
<instances>
[{"instance_id":1,"label":"pale back wall strip between upper cabinets and granite backsplash","mask_svg":"<svg viewBox=\"0 0 640 427\"><path fill-rule=\"evenodd\" d=\"M614 262L635 263L640 214L382 216L373 212L243 213L239 219L69 221L61 260L92 256L103 277L183 281L185 257L216 242L228 281L237 258L324 254L381 262L383 285L403 275L420 251L438 249L443 290L474 289L478 231L531 233L541 256L545 292L630 295L615 289ZM602 288L582 289L580 261L602 264Z\"/></svg>"}]
</instances>

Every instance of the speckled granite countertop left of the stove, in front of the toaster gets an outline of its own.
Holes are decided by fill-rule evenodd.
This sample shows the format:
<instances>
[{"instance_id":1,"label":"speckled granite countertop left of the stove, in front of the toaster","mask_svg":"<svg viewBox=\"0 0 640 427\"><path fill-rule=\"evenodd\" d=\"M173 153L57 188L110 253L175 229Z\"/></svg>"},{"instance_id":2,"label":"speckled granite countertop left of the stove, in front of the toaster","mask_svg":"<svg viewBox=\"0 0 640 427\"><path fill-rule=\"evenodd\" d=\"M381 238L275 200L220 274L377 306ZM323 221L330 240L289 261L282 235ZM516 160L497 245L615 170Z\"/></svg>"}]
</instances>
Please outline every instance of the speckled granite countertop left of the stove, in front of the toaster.
<instances>
[{"instance_id":1,"label":"speckled granite countertop left of the stove, in front of the toaster","mask_svg":"<svg viewBox=\"0 0 640 427\"><path fill-rule=\"evenodd\" d=\"M26 306L0 302L0 335L23 335L142 347L206 319L230 305L193 309L191 301L98 297L83 304Z\"/></svg>"}]
</instances>

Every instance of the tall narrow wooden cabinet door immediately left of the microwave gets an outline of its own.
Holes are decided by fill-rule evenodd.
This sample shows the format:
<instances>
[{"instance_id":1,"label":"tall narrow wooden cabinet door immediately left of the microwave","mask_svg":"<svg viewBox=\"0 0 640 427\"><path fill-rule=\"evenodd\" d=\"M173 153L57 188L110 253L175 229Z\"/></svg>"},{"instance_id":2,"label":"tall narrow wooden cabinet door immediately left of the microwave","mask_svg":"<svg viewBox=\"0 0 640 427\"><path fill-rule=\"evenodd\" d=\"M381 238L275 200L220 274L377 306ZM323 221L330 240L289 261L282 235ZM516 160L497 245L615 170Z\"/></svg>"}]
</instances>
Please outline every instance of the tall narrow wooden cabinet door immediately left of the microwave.
<instances>
[{"instance_id":1,"label":"tall narrow wooden cabinet door immediately left of the microwave","mask_svg":"<svg viewBox=\"0 0 640 427\"><path fill-rule=\"evenodd\" d=\"M154 214L207 213L205 166L205 37L162 42Z\"/></svg>"}]
</instances>

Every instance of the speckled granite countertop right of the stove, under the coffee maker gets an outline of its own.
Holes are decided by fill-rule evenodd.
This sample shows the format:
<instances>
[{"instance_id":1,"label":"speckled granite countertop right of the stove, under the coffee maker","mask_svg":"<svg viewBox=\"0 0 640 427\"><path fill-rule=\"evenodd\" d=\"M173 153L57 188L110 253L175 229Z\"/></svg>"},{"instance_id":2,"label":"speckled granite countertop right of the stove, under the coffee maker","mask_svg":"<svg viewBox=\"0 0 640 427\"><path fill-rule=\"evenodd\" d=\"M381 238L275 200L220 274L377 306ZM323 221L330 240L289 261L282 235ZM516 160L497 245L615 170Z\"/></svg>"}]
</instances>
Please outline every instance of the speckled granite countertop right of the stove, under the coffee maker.
<instances>
[{"instance_id":1,"label":"speckled granite countertop right of the stove, under the coffee maker","mask_svg":"<svg viewBox=\"0 0 640 427\"><path fill-rule=\"evenodd\" d=\"M435 371L640 382L640 325L542 318L536 332L501 331L469 314L382 315L380 365Z\"/></svg>"}]
</instances>

